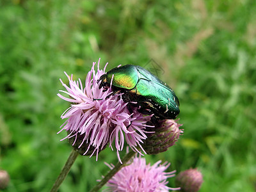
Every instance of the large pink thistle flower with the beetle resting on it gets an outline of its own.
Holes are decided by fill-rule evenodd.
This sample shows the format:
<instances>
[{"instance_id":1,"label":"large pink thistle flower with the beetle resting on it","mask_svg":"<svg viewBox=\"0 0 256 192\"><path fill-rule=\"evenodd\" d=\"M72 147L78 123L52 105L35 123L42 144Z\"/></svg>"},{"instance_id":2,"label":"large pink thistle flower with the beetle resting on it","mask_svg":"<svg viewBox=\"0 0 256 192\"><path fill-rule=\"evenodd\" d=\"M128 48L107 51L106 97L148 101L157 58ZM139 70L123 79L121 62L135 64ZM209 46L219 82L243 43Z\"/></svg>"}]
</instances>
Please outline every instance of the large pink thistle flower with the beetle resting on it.
<instances>
[{"instance_id":1,"label":"large pink thistle flower with the beetle resting on it","mask_svg":"<svg viewBox=\"0 0 256 192\"><path fill-rule=\"evenodd\" d=\"M138 151L139 146L142 150L140 143L147 138L146 127L150 127L146 123L150 120L150 116L141 115L136 109L133 109L131 114L127 109L127 102L122 100L122 94L112 93L111 87L107 90L99 88L98 82L100 76L105 74L104 70L98 68L97 72L94 70L96 62L93 62L93 67L88 72L85 80L85 87L81 80L74 81L73 77L68 77L69 86L63 81L61 83L67 91L60 90L60 92L67 93L69 97L64 97L60 93L58 96L72 102L61 118L67 120L61 125L61 131L66 130L68 136L63 138L72 138L75 145L79 141L78 148L83 145L86 146L83 155L98 157L99 152L110 143L113 150L112 143L115 143L116 153L120 161L119 153L123 148L125 141L132 148ZM108 97L109 96L109 97ZM60 132L61 132L60 131ZM59 132L58 132L59 133ZM74 137L74 138L73 138ZM143 150L143 152L145 152ZM121 161L120 161L121 162Z\"/></svg>"}]
</instances>

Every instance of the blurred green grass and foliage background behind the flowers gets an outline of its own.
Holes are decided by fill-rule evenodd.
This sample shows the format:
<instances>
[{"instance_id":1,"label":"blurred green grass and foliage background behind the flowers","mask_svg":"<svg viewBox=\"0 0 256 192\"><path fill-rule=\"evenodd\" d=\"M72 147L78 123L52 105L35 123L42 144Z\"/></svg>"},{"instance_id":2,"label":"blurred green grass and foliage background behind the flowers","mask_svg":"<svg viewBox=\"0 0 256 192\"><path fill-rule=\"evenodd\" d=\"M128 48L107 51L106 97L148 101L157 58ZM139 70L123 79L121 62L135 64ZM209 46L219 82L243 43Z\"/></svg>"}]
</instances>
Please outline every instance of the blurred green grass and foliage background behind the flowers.
<instances>
[{"instance_id":1,"label":"blurred green grass and foliage background behind the flowers","mask_svg":"<svg viewBox=\"0 0 256 192\"><path fill-rule=\"evenodd\" d=\"M49 191L70 154L57 97L63 74L101 58L163 68L180 100L184 135L146 156L169 171L199 168L200 191L255 191L256 1L0 1L0 168L5 191ZM151 65L151 64L150 64ZM124 153L121 154L122 156ZM116 163L109 148L78 157L60 191L88 191ZM175 187L174 178L168 186Z\"/></svg>"}]
</instances>

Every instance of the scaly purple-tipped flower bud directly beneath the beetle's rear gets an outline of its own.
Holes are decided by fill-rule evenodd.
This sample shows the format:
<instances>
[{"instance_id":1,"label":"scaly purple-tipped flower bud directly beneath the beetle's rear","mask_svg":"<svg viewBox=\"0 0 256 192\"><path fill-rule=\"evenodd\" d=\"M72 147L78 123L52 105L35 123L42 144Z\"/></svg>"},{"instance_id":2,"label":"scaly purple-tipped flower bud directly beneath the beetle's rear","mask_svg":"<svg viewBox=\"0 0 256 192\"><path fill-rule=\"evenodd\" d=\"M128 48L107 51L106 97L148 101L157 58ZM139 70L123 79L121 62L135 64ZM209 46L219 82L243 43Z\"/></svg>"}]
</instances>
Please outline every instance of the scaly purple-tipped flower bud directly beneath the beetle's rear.
<instances>
[{"instance_id":1,"label":"scaly purple-tipped flower bud directly beneath the beetle's rear","mask_svg":"<svg viewBox=\"0 0 256 192\"><path fill-rule=\"evenodd\" d=\"M179 129L182 124L177 124L177 120L160 120L155 125L154 133L148 134L147 140L142 147L147 154L159 154L166 151L179 139L183 129Z\"/></svg>"}]
</instances>

